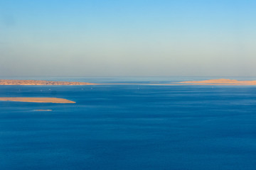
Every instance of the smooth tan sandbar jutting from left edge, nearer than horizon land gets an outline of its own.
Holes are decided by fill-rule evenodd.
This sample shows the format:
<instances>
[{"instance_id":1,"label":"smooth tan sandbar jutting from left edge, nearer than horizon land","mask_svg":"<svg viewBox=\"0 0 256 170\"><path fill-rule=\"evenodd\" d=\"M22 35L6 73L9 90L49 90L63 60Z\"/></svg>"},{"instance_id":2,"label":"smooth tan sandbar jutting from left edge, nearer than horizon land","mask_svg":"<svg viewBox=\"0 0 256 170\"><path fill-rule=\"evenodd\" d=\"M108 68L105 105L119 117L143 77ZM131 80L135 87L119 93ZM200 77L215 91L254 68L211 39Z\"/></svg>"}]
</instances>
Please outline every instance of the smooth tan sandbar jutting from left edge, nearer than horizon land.
<instances>
[{"instance_id":1,"label":"smooth tan sandbar jutting from left edge, nearer than horizon land","mask_svg":"<svg viewBox=\"0 0 256 170\"><path fill-rule=\"evenodd\" d=\"M33 103L75 103L75 101L69 101L65 98L0 98L0 101L21 101L21 102L33 102Z\"/></svg>"}]
</instances>

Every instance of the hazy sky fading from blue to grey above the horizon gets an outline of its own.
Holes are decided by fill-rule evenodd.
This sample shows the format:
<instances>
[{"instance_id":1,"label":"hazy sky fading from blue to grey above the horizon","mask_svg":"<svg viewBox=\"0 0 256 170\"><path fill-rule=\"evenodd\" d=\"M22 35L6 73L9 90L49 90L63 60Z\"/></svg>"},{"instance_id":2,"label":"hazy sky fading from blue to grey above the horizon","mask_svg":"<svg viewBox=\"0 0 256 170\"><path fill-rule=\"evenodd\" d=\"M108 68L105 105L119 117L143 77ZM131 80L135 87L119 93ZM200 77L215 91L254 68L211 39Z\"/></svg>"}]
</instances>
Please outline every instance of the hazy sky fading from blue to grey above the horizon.
<instances>
[{"instance_id":1,"label":"hazy sky fading from blue to grey above the horizon","mask_svg":"<svg viewBox=\"0 0 256 170\"><path fill-rule=\"evenodd\" d=\"M0 0L0 76L256 76L255 0Z\"/></svg>"}]
</instances>

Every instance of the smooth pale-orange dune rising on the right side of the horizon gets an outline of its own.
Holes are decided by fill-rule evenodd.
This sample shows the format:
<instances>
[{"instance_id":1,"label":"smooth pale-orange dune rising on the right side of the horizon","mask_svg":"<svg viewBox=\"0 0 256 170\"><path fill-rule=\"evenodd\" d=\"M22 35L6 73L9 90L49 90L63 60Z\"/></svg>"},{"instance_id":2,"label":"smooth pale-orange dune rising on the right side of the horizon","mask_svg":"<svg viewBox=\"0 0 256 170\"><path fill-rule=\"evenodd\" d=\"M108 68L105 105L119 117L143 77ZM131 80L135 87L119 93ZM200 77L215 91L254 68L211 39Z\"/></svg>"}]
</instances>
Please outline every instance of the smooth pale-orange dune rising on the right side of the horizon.
<instances>
[{"instance_id":1,"label":"smooth pale-orange dune rising on the right side of the horizon","mask_svg":"<svg viewBox=\"0 0 256 170\"><path fill-rule=\"evenodd\" d=\"M235 79L210 79L203 81L181 81L180 84L194 84L194 85L237 85L237 86L250 86L256 85L256 81L239 81Z\"/></svg>"}]
</instances>

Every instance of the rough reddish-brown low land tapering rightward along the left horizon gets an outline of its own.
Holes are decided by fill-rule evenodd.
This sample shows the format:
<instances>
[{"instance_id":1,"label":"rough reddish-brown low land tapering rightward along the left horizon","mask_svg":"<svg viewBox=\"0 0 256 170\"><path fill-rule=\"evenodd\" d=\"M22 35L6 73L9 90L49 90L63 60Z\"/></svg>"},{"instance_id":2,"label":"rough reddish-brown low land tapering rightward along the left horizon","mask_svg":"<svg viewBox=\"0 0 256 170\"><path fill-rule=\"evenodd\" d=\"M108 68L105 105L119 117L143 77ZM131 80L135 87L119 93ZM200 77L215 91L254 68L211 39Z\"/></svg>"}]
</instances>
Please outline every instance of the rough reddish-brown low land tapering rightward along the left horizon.
<instances>
[{"instance_id":1,"label":"rough reddish-brown low land tapering rightward along the left horizon","mask_svg":"<svg viewBox=\"0 0 256 170\"><path fill-rule=\"evenodd\" d=\"M0 85L95 85L84 82L0 79Z\"/></svg>"}]
</instances>

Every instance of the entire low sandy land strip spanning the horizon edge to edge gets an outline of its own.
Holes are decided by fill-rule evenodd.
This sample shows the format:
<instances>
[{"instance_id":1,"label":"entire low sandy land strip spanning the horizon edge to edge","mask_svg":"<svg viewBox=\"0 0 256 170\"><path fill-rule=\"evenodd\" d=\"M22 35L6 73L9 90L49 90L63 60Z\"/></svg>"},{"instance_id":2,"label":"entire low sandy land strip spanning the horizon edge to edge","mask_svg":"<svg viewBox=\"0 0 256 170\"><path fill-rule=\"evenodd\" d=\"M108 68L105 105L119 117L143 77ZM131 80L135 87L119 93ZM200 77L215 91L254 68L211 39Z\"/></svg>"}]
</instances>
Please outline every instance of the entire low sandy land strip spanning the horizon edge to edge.
<instances>
[{"instance_id":1,"label":"entire low sandy land strip spanning the horizon edge to edge","mask_svg":"<svg viewBox=\"0 0 256 170\"><path fill-rule=\"evenodd\" d=\"M177 86L177 85L211 85L211 86L254 86L256 81L239 81L235 79L209 79L203 81L180 81L174 84L95 84L78 81L45 81L45 80L12 80L0 79L0 85L41 85L41 86L72 86L72 85L156 85L156 86Z\"/></svg>"}]
</instances>

